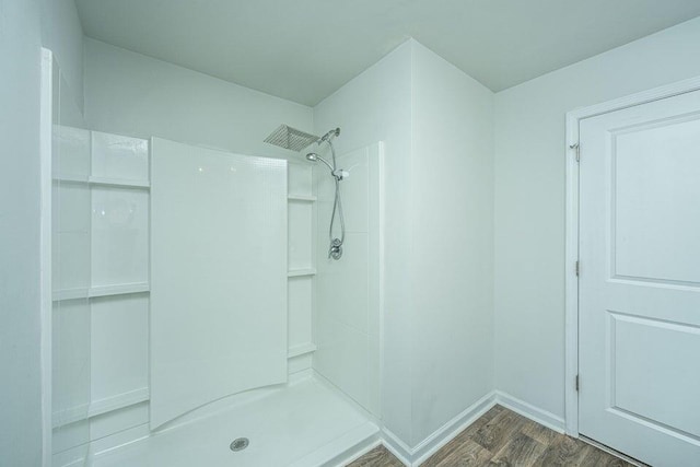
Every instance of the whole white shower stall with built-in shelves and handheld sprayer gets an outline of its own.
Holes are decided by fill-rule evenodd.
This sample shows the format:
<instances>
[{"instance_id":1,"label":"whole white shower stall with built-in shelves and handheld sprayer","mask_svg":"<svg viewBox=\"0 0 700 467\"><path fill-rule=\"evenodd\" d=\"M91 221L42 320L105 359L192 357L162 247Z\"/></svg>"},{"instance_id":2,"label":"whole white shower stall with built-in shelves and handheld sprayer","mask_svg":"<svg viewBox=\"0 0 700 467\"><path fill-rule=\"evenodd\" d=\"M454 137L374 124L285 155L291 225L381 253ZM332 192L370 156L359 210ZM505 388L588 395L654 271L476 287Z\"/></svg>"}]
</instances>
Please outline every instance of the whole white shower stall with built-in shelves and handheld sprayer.
<instances>
[{"instance_id":1,"label":"whole white shower stall with built-in shelves and handheld sprayer","mask_svg":"<svg viewBox=\"0 0 700 467\"><path fill-rule=\"evenodd\" d=\"M96 131L49 51L43 73L52 465L335 466L376 445L382 144L336 154L339 129L283 126L270 157Z\"/></svg>"}]
</instances>

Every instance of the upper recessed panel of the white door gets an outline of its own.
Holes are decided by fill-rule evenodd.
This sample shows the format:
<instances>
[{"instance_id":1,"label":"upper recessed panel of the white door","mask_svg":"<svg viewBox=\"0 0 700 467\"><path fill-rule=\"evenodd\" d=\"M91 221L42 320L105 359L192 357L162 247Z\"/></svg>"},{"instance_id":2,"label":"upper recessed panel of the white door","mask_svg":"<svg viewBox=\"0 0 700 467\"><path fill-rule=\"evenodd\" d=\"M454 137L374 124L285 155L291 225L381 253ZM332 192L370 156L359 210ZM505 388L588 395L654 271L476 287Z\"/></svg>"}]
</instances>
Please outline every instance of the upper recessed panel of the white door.
<instances>
[{"instance_id":1,"label":"upper recessed panel of the white door","mask_svg":"<svg viewBox=\"0 0 700 467\"><path fill-rule=\"evenodd\" d=\"M611 132L616 276L700 285L700 119L684 120Z\"/></svg>"}]
</instances>

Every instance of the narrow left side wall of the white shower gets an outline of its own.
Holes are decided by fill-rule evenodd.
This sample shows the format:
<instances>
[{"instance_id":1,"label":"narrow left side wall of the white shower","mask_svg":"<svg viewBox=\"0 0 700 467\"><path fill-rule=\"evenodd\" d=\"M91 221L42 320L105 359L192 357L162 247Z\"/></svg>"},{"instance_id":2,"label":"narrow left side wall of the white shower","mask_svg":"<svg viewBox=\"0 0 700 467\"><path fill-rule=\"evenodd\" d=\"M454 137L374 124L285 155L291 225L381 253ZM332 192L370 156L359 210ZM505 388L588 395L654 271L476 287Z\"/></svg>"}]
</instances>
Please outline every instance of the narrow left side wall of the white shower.
<instances>
[{"instance_id":1,"label":"narrow left side wall of the white shower","mask_svg":"<svg viewBox=\"0 0 700 467\"><path fill-rule=\"evenodd\" d=\"M91 162L90 131L77 128L82 117L73 94L55 60L51 68L50 409L51 450L58 453L90 441Z\"/></svg>"}]
</instances>

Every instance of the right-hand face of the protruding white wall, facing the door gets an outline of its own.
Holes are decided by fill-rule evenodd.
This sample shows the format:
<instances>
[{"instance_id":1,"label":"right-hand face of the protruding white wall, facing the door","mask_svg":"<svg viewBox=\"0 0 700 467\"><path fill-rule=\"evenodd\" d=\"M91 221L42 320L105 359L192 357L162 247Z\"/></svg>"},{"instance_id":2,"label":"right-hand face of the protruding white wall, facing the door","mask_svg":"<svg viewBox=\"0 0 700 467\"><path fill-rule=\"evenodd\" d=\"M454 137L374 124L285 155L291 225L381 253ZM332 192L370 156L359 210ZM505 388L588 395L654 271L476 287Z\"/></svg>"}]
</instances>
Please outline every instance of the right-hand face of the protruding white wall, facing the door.
<instances>
[{"instance_id":1,"label":"right-hand face of the protruding white wall, facing the door","mask_svg":"<svg viewBox=\"0 0 700 467\"><path fill-rule=\"evenodd\" d=\"M416 445L493 389L493 93L412 44Z\"/></svg>"}]
</instances>

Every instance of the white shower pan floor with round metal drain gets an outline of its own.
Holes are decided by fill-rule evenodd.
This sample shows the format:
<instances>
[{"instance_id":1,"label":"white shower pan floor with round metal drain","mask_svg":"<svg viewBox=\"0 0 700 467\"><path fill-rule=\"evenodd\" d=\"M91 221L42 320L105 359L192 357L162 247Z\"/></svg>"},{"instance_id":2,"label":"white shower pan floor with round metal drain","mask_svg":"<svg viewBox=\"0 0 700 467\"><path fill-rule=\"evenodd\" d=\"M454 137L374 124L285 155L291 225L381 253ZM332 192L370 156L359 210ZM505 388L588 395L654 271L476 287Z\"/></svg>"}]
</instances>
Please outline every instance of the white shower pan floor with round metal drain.
<instances>
[{"instance_id":1,"label":"white shower pan floor with round metal drain","mask_svg":"<svg viewBox=\"0 0 700 467\"><path fill-rule=\"evenodd\" d=\"M247 447L232 451L240 437ZM96 454L94 467L340 466L375 446L369 416L308 375L262 397Z\"/></svg>"}]
</instances>

